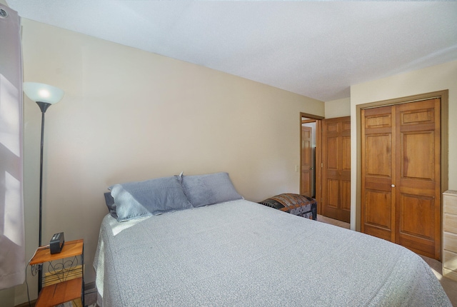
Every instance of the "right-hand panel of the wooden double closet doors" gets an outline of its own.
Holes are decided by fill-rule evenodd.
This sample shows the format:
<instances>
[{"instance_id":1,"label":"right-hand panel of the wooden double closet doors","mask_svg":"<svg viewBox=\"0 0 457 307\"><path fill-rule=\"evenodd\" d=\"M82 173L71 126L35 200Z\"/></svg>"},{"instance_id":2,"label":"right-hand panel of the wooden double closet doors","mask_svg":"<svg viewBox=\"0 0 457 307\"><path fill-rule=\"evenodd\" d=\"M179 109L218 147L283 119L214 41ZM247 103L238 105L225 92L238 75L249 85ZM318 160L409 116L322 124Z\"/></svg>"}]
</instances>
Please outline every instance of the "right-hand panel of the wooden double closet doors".
<instances>
[{"instance_id":1,"label":"right-hand panel of the wooden double closet doors","mask_svg":"<svg viewBox=\"0 0 457 307\"><path fill-rule=\"evenodd\" d=\"M440 99L396 106L396 243L441 254Z\"/></svg>"}]
</instances>

